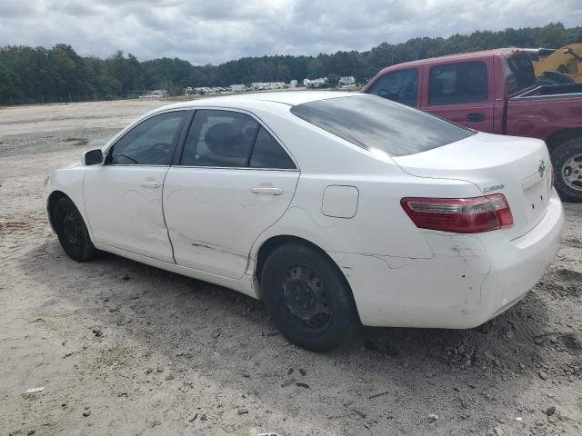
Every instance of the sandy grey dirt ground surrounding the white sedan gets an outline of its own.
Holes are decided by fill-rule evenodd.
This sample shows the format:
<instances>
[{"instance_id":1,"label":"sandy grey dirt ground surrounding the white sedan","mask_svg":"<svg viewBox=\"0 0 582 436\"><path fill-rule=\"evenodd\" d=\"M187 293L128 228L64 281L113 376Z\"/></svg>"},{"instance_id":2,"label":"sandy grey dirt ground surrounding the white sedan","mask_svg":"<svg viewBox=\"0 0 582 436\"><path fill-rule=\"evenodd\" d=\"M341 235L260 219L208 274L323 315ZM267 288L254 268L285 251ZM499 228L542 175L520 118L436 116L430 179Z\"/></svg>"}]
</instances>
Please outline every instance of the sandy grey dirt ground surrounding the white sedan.
<instances>
[{"instance_id":1,"label":"sandy grey dirt ground surrounding the white sedan","mask_svg":"<svg viewBox=\"0 0 582 436\"><path fill-rule=\"evenodd\" d=\"M75 263L51 233L45 174L161 104L0 109L0 434L582 434L582 205L492 322L306 352L261 302L115 255Z\"/></svg>"}]
</instances>

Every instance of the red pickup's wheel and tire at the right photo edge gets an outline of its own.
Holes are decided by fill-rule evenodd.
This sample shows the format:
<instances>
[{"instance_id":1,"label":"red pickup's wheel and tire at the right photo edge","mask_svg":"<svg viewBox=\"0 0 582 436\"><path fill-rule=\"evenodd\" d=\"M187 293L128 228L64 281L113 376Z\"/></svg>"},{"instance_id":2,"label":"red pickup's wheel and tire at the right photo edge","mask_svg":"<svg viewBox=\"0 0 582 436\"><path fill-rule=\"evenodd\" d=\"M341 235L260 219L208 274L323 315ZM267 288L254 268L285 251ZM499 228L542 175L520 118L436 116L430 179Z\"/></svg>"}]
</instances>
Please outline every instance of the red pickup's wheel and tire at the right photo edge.
<instances>
[{"instance_id":1,"label":"red pickup's wheel and tire at the right photo edge","mask_svg":"<svg viewBox=\"0 0 582 436\"><path fill-rule=\"evenodd\" d=\"M582 138L559 144L551 157L556 190L562 201L582 203Z\"/></svg>"}]
</instances>

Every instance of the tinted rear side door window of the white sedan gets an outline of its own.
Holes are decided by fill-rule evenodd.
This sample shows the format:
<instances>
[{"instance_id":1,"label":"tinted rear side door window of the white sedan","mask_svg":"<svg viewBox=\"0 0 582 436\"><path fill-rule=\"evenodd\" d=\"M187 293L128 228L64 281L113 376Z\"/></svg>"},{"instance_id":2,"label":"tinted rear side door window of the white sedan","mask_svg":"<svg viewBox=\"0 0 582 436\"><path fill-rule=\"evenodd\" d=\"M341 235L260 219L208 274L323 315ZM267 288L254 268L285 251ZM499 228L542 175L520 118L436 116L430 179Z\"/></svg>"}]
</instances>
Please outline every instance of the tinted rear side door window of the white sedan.
<instances>
[{"instance_id":1,"label":"tinted rear side door window of the white sedan","mask_svg":"<svg viewBox=\"0 0 582 436\"><path fill-rule=\"evenodd\" d=\"M225 168L295 168L275 138L255 118L198 110L186 136L182 165Z\"/></svg>"}]
</instances>

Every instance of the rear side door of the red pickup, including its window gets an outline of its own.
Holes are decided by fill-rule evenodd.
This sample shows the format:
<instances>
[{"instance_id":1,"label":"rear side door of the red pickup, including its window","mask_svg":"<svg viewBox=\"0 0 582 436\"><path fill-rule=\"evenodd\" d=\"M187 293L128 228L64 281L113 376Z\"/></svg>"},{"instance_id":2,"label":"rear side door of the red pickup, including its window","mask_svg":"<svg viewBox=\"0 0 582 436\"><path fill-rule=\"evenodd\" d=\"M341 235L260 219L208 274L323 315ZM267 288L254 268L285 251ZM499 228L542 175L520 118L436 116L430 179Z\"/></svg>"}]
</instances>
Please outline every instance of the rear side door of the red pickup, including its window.
<instances>
[{"instance_id":1,"label":"rear side door of the red pickup, including its window","mask_svg":"<svg viewBox=\"0 0 582 436\"><path fill-rule=\"evenodd\" d=\"M423 68L420 109L481 132L494 132L493 56Z\"/></svg>"}]
</instances>

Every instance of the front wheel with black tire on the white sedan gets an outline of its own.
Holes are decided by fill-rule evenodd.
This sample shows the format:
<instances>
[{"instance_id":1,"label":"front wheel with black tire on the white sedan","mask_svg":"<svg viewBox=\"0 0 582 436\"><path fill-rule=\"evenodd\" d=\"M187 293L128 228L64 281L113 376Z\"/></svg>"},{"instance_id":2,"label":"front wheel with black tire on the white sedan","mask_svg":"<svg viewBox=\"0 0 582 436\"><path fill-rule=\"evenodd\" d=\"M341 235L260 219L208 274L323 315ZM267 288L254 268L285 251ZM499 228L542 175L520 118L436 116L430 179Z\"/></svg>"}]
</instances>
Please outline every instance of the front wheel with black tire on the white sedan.
<instances>
[{"instance_id":1,"label":"front wheel with black tire on the white sedan","mask_svg":"<svg viewBox=\"0 0 582 436\"><path fill-rule=\"evenodd\" d=\"M97 250L91 242L83 216L71 200L60 198L53 209L53 227L65 253L76 262L95 258Z\"/></svg>"}]
</instances>

